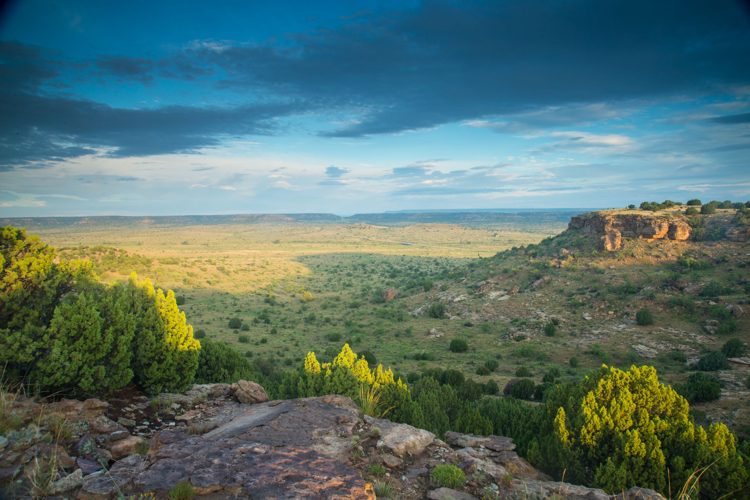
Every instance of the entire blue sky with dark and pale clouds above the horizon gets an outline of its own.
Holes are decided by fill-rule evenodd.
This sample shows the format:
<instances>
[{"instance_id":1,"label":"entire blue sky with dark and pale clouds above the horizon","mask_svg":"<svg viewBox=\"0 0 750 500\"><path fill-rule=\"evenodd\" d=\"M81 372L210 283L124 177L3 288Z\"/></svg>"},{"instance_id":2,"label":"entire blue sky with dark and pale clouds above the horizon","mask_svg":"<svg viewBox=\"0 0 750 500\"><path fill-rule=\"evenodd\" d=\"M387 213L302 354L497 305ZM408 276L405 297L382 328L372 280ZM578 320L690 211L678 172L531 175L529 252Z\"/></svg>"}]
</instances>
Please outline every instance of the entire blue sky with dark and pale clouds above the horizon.
<instances>
[{"instance_id":1,"label":"entire blue sky with dark and pale clouds above the horizon","mask_svg":"<svg viewBox=\"0 0 750 500\"><path fill-rule=\"evenodd\" d=\"M750 199L734 0L21 0L0 216Z\"/></svg>"}]
</instances>

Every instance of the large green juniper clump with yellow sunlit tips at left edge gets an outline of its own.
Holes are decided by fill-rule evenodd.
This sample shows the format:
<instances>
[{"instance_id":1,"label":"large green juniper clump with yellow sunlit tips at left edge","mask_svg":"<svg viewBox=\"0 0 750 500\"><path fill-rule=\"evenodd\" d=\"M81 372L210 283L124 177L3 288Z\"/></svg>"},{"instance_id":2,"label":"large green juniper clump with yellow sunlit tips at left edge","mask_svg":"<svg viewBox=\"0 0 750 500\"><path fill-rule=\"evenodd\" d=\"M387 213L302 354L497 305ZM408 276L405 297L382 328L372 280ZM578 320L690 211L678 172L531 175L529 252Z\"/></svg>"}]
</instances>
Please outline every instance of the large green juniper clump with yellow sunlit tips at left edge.
<instances>
[{"instance_id":1,"label":"large green juniper clump with yellow sunlit tips at left edge","mask_svg":"<svg viewBox=\"0 0 750 500\"><path fill-rule=\"evenodd\" d=\"M0 363L42 391L89 395L135 382L155 393L193 382L200 344L170 290L149 280L104 286L92 262L56 262L11 226L0 235Z\"/></svg>"}]
</instances>

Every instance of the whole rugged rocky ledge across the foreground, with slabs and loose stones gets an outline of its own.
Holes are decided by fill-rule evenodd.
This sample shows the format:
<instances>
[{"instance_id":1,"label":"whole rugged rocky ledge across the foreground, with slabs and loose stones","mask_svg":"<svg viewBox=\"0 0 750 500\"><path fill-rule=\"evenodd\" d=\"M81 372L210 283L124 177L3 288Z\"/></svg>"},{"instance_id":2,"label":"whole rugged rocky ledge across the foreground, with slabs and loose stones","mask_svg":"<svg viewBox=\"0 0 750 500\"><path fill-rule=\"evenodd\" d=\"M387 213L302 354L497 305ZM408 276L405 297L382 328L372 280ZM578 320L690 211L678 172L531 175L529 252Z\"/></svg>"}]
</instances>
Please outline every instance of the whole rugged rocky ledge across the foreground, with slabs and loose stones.
<instances>
[{"instance_id":1,"label":"whole rugged rocky ledge across the foreground, with slabs and loose stones","mask_svg":"<svg viewBox=\"0 0 750 500\"><path fill-rule=\"evenodd\" d=\"M528 499L663 500L651 490L633 488L614 497L550 481L517 456L511 439L446 433L443 442L426 430L364 416L348 397L268 401L263 388L252 382L196 386L190 397L196 391L210 394L214 404L184 414L190 424L186 427L160 430L149 440L148 451L138 445L142 437L127 436L104 415L107 403L52 403L49 407L68 409L68 420L87 430L65 447L80 457L68 456L55 443L37 441L26 447L6 441L0 460L19 454L26 461L2 469L5 486L33 475L35 455L55 454L62 478L50 496L79 500L137 499L142 493L166 498L181 481L190 481L205 499L374 500L368 472L374 463L383 465L386 476L381 480L404 499L471 500L515 493ZM21 409L32 411L30 404ZM127 446L117 445L125 440ZM60 449L50 448L55 446ZM109 470L103 469L100 463L110 459ZM432 484L430 472L444 464L463 469L466 484L457 490Z\"/></svg>"}]
</instances>

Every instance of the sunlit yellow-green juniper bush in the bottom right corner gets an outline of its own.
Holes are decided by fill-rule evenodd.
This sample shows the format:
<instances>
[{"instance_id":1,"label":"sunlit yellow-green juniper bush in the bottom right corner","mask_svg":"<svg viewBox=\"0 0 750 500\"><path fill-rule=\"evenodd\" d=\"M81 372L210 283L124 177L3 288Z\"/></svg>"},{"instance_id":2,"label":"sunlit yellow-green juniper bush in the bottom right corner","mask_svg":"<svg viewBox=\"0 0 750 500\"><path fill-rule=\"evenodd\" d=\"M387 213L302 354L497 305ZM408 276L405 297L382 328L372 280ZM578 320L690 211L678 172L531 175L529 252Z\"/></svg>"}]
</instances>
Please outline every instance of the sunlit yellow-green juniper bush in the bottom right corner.
<instances>
[{"instance_id":1,"label":"sunlit yellow-green juniper bush in the bottom right corner","mask_svg":"<svg viewBox=\"0 0 750 500\"><path fill-rule=\"evenodd\" d=\"M653 367L601 367L577 385L547 391L546 398L527 455L553 477L567 469L565 481L571 484L609 493L647 484L667 494L670 484L685 484L694 470L711 464L700 478L700 496L709 499L733 492L748 480L736 438L727 427L694 428L688 403L658 382ZM643 449L645 443L651 444L646 445L649 451L636 459L631 450Z\"/></svg>"}]
</instances>

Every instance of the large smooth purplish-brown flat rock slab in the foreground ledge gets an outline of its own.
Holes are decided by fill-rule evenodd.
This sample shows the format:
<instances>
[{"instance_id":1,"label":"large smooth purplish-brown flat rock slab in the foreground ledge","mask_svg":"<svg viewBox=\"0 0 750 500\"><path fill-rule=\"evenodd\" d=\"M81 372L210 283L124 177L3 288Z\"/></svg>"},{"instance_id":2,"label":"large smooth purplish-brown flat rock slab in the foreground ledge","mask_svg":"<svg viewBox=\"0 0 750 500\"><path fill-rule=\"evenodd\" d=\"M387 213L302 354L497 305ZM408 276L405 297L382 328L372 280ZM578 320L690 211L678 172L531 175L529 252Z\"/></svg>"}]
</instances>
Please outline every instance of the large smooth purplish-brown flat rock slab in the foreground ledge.
<instances>
[{"instance_id":1,"label":"large smooth purplish-brown flat rock slab in the foreground ledge","mask_svg":"<svg viewBox=\"0 0 750 500\"><path fill-rule=\"evenodd\" d=\"M162 494L190 481L199 495L375 500L359 471L340 460L359 424L352 400L332 395L272 403L220 407L212 415L219 427L203 436L161 431L151 451L153 463L138 471L118 464L118 487ZM83 491L103 498L107 485L95 477Z\"/></svg>"}]
</instances>

